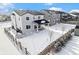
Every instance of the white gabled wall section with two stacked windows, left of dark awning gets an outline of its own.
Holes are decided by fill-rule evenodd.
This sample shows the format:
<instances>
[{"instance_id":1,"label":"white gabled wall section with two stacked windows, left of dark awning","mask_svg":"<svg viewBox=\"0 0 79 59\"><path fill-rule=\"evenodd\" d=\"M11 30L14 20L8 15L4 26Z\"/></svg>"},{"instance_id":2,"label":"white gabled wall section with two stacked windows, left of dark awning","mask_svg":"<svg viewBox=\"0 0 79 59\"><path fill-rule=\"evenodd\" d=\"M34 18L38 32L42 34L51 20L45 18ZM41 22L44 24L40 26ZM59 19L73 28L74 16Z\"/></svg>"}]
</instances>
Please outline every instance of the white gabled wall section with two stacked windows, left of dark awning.
<instances>
[{"instance_id":1,"label":"white gabled wall section with two stacked windows, left of dark awning","mask_svg":"<svg viewBox=\"0 0 79 59\"><path fill-rule=\"evenodd\" d=\"M26 17L29 17L29 20L26 20ZM31 14L25 14L21 17L21 22L22 22L22 31L24 34L29 34L31 31L33 31L33 15ZM30 29L26 29L26 25L30 25Z\"/></svg>"}]
</instances>

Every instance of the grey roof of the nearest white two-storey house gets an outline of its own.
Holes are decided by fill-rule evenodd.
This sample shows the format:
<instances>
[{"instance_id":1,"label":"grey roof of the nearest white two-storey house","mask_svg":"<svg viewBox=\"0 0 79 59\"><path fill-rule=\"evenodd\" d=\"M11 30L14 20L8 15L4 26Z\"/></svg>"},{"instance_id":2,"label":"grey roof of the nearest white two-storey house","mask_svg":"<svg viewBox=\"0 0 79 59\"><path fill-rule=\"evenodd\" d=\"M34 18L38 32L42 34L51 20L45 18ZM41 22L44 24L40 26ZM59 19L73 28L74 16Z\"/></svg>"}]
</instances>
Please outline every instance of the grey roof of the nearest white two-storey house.
<instances>
[{"instance_id":1,"label":"grey roof of the nearest white two-storey house","mask_svg":"<svg viewBox=\"0 0 79 59\"><path fill-rule=\"evenodd\" d=\"M20 16L22 16L22 15L24 15L24 14L26 14L26 13L30 13L30 14L33 14L33 15L44 15L44 14L42 14L41 12L34 11L34 10L15 10L15 12L16 12L18 15L20 15Z\"/></svg>"}]
</instances>

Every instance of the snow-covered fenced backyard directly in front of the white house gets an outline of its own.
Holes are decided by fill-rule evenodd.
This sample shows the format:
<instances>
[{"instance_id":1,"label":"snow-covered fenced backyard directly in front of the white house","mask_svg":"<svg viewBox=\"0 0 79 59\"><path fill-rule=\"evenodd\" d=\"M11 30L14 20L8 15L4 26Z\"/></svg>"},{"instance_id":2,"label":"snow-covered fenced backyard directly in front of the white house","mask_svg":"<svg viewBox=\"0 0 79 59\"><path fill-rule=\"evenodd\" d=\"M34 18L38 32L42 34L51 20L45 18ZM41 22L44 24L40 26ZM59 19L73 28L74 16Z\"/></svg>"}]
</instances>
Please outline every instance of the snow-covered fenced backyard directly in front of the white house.
<instances>
[{"instance_id":1,"label":"snow-covered fenced backyard directly in front of the white house","mask_svg":"<svg viewBox=\"0 0 79 59\"><path fill-rule=\"evenodd\" d=\"M61 34L53 32L52 40L49 38L49 33L46 30L43 30L39 33L35 33L31 36L19 39L22 46L27 48L27 51L30 54L38 54L43 51L50 43L59 38Z\"/></svg>"}]
</instances>

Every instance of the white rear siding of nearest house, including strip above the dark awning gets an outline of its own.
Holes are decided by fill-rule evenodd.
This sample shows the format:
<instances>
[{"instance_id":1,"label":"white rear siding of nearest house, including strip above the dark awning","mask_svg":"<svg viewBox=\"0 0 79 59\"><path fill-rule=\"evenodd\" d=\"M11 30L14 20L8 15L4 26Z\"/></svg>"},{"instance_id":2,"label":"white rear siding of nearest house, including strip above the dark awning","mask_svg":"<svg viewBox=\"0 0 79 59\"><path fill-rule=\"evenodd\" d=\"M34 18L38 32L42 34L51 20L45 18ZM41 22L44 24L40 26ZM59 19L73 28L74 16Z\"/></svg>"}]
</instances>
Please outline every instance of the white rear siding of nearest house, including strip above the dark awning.
<instances>
[{"instance_id":1,"label":"white rear siding of nearest house, including strip above the dark awning","mask_svg":"<svg viewBox=\"0 0 79 59\"><path fill-rule=\"evenodd\" d=\"M29 20L26 20L26 17L29 17ZM24 34L29 34L30 32L34 31L34 20L40 20L38 19L38 17L40 17L40 19L44 19L44 15L32 15L32 14L25 14L23 15L22 18L22 31ZM30 25L31 28L30 29L26 29L26 25Z\"/></svg>"}]
</instances>

